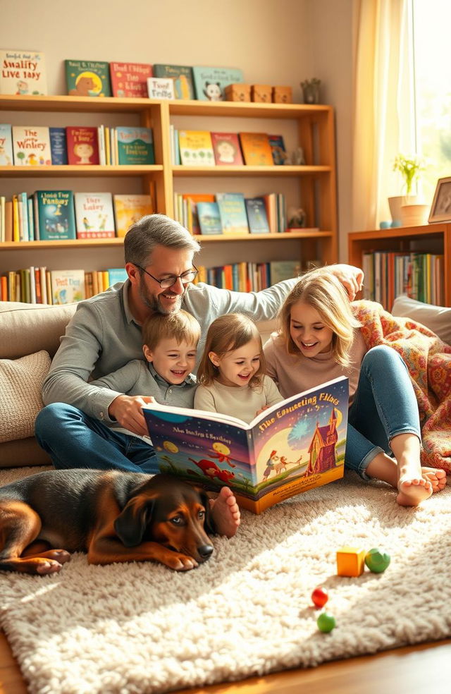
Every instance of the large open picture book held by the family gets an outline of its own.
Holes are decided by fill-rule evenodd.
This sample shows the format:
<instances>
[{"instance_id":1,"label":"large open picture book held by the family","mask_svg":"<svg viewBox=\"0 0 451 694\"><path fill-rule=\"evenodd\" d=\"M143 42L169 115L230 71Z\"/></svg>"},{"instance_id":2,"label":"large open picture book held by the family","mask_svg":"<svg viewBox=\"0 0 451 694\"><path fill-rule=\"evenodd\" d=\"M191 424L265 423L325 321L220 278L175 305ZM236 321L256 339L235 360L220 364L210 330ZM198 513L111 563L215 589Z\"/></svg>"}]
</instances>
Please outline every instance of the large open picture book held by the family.
<instances>
[{"instance_id":1,"label":"large open picture book held by the family","mask_svg":"<svg viewBox=\"0 0 451 694\"><path fill-rule=\"evenodd\" d=\"M333 379L260 413L229 415L150 403L142 412L161 472L206 489L227 485L261 513L343 475L349 383Z\"/></svg>"}]
</instances>

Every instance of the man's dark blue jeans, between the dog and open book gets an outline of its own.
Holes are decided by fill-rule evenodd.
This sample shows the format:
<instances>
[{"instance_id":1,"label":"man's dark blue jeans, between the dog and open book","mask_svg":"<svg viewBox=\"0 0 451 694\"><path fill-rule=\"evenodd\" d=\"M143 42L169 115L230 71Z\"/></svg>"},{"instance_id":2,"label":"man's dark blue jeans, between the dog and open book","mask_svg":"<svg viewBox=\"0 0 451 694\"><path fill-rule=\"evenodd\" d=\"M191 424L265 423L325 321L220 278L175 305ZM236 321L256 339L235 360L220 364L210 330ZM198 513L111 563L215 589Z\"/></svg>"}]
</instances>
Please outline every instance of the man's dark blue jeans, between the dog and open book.
<instances>
[{"instance_id":1,"label":"man's dark blue jeans, between the dog and open book","mask_svg":"<svg viewBox=\"0 0 451 694\"><path fill-rule=\"evenodd\" d=\"M142 439L106 427L82 410L53 403L39 413L35 425L39 445L56 469L92 468L157 473L152 446Z\"/></svg>"}]
</instances>

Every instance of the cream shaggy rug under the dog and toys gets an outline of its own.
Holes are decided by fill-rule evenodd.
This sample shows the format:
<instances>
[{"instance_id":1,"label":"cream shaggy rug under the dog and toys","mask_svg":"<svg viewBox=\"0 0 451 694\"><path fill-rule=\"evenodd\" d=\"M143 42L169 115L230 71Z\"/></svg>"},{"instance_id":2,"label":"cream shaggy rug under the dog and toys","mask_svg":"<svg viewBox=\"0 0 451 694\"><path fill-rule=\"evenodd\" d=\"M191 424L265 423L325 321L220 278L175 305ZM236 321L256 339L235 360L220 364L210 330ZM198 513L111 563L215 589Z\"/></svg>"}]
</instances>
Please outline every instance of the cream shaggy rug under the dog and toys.
<instances>
[{"instance_id":1,"label":"cream shaggy rug under the dog and toys","mask_svg":"<svg viewBox=\"0 0 451 694\"><path fill-rule=\"evenodd\" d=\"M34 473L37 468L28 468ZM0 473L0 484L23 476ZM0 573L0 625L30 692L148 694L239 680L451 635L451 489L421 509L354 475L261 516L243 513L206 564ZM385 573L335 575L342 545L381 547ZM316 628L324 585L337 628Z\"/></svg>"}]
</instances>

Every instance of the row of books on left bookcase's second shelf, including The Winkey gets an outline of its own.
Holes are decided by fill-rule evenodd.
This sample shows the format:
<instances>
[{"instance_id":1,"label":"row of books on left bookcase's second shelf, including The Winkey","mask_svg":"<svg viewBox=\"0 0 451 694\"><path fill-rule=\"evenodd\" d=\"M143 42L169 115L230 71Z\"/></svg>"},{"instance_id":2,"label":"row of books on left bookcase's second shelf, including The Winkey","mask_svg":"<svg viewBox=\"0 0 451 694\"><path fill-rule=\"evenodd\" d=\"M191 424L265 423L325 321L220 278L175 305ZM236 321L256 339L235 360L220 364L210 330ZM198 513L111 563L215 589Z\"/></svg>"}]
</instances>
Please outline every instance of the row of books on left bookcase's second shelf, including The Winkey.
<instances>
[{"instance_id":1,"label":"row of books on left bookcase's second shelf, including The Winkey","mask_svg":"<svg viewBox=\"0 0 451 694\"><path fill-rule=\"evenodd\" d=\"M154 164L151 128L0 123L0 166Z\"/></svg>"}]
</instances>

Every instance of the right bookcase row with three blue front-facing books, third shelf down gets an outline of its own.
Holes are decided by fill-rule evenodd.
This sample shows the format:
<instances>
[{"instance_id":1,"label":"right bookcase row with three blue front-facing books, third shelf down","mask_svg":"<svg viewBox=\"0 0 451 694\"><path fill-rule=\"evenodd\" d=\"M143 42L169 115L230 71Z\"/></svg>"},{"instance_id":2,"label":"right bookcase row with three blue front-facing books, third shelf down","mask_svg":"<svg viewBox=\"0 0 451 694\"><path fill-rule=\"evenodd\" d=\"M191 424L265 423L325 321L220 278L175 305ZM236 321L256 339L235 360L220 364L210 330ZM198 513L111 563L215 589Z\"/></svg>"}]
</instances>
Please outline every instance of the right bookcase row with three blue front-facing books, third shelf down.
<instances>
[{"instance_id":1,"label":"right bookcase row with three blue front-facing books, third shelf down","mask_svg":"<svg viewBox=\"0 0 451 694\"><path fill-rule=\"evenodd\" d=\"M283 193L174 193L174 217L193 234L281 233L287 227Z\"/></svg>"}]
</instances>

